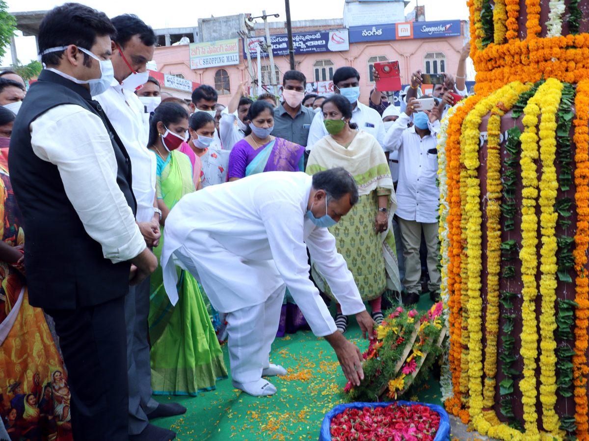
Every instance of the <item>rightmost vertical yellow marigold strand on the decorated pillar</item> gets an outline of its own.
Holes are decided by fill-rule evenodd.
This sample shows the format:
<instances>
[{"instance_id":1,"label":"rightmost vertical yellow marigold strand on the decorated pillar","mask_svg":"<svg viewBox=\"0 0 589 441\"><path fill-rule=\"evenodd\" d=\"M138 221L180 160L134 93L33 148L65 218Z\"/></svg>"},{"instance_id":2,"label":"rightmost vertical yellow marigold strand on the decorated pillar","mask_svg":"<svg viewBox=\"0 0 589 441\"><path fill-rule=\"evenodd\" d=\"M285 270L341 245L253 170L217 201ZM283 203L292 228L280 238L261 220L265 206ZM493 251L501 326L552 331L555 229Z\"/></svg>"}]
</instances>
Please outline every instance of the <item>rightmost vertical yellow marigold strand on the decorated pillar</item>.
<instances>
[{"instance_id":1,"label":"rightmost vertical yellow marigold strand on the decorated pillar","mask_svg":"<svg viewBox=\"0 0 589 441\"><path fill-rule=\"evenodd\" d=\"M560 439L558 415L554 412L556 403L556 342L554 331L555 303L557 287L557 238L555 236L558 213L554 211L558 181L554 161L556 159L556 113L560 104L562 83L549 78L540 86L540 160L542 163L542 179L540 181L540 229L542 248L540 250L542 273L540 294L542 296L542 313L540 315L540 402L542 403L542 425L556 439Z\"/></svg>"}]
</instances>

